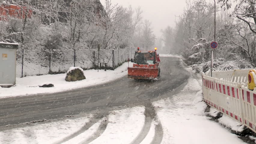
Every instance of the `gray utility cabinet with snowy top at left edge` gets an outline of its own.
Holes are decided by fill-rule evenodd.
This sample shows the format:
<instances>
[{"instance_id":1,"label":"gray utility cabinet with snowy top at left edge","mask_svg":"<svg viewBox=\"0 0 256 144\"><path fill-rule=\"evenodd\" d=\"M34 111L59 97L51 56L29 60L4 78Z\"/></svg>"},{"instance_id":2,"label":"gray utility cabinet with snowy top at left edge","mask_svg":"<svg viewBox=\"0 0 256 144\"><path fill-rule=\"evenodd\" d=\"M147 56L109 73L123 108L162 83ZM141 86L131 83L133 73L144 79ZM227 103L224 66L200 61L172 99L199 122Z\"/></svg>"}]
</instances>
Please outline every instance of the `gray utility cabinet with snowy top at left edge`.
<instances>
[{"instance_id":1,"label":"gray utility cabinet with snowy top at left edge","mask_svg":"<svg viewBox=\"0 0 256 144\"><path fill-rule=\"evenodd\" d=\"M0 42L0 86L16 84L16 50L19 44Z\"/></svg>"}]
</instances>

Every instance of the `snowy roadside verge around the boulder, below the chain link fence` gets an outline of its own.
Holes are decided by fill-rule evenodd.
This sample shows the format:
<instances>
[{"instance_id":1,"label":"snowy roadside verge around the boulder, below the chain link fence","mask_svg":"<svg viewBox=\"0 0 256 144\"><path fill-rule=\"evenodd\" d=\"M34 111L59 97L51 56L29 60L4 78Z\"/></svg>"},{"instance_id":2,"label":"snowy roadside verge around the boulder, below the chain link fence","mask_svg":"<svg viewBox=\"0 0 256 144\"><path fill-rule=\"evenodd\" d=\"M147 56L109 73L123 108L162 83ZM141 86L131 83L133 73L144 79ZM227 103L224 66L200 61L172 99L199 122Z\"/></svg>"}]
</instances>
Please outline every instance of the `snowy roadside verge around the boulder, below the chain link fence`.
<instances>
[{"instance_id":1,"label":"snowy roadside verge around the boulder, below the chain link fence","mask_svg":"<svg viewBox=\"0 0 256 144\"><path fill-rule=\"evenodd\" d=\"M129 63L132 66L133 63ZM72 90L76 88L84 88L88 86L103 84L113 81L127 75L128 62L124 63L115 70L85 70L84 74L86 79L76 82L66 82L64 74L42 75L42 76L26 76L17 78L16 86L11 88L1 88L0 98L35 95L43 93L54 93ZM40 88L38 85L51 83L54 85L52 88Z\"/></svg>"}]
</instances>

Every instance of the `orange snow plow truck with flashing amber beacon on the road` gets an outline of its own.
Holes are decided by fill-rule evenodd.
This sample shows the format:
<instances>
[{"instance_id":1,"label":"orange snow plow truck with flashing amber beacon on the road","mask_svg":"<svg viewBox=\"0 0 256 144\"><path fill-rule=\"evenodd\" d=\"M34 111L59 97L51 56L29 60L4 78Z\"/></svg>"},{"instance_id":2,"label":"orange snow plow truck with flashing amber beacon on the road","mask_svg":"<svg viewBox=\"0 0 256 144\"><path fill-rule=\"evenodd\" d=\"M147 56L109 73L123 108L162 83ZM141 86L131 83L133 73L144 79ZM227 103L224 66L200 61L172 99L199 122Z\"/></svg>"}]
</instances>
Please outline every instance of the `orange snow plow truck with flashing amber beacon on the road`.
<instances>
[{"instance_id":1,"label":"orange snow plow truck with flashing amber beacon on the road","mask_svg":"<svg viewBox=\"0 0 256 144\"><path fill-rule=\"evenodd\" d=\"M128 78L131 79L155 79L160 77L160 68L158 67L160 59L157 55L157 48L154 51L135 52L133 67L128 67Z\"/></svg>"}]
</instances>

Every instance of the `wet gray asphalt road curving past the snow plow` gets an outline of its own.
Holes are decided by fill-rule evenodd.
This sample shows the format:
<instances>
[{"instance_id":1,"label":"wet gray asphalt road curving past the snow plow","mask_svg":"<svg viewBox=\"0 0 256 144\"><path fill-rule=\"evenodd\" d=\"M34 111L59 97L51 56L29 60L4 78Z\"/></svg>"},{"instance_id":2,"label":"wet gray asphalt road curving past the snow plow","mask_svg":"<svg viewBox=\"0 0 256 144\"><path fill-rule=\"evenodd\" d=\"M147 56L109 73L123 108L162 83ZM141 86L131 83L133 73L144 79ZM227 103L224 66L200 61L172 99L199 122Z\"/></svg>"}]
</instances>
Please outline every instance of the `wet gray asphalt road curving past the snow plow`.
<instances>
[{"instance_id":1,"label":"wet gray asphalt road curving past the snow plow","mask_svg":"<svg viewBox=\"0 0 256 144\"><path fill-rule=\"evenodd\" d=\"M158 80L138 81L124 76L103 85L72 91L1 99L0 126L58 119L95 110L105 115L112 107L146 105L172 96L189 78L181 63L179 58L161 57Z\"/></svg>"}]
</instances>

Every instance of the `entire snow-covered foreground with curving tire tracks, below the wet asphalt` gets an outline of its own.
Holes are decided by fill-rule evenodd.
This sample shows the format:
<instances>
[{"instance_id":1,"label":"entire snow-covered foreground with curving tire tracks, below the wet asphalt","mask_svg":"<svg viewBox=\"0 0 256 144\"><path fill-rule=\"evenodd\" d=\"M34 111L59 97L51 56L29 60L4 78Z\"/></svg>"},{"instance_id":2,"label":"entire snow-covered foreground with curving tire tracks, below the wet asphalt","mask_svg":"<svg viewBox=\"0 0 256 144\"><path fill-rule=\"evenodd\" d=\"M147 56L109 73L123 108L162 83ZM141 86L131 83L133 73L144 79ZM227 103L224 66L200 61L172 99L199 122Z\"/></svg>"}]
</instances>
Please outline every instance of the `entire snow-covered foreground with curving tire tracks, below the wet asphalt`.
<instances>
[{"instance_id":1,"label":"entire snow-covered foreground with curving tire tracks, below the wet asphalt","mask_svg":"<svg viewBox=\"0 0 256 144\"><path fill-rule=\"evenodd\" d=\"M244 143L220 124L209 120L206 104L202 101L201 80L191 74L191 69L186 70L190 73L187 85L176 95L167 93L167 98L148 101L150 106L145 103L118 107L99 119L97 115L87 114L9 126L0 131L0 144ZM222 123L228 121L221 119Z\"/></svg>"}]
</instances>

